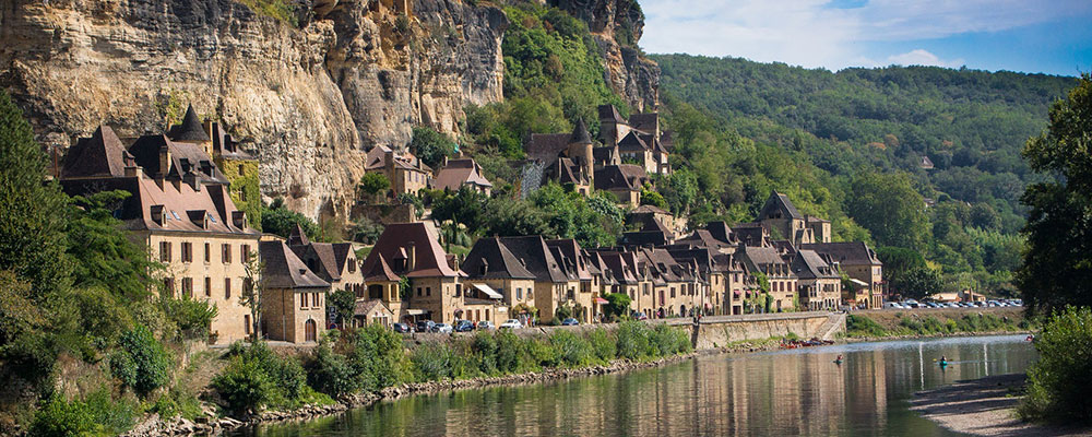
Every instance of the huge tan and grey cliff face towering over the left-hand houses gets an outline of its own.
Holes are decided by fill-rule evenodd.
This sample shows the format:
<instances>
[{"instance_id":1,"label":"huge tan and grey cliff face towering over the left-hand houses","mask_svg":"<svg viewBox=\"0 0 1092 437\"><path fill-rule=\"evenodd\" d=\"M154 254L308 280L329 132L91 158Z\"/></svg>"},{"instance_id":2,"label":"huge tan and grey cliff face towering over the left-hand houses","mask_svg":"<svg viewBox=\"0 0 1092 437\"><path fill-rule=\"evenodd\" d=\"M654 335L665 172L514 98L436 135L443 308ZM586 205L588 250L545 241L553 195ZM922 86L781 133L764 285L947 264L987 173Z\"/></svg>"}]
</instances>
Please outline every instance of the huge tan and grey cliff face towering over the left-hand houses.
<instances>
[{"instance_id":1,"label":"huge tan and grey cliff face towering over the left-hand houses","mask_svg":"<svg viewBox=\"0 0 1092 437\"><path fill-rule=\"evenodd\" d=\"M233 0L9 0L0 86L41 142L165 132L187 103L260 160L262 193L344 220L371 144L502 98L508 22L459 0L319 0L298 26Z\"/></svg>"}]
</instances>

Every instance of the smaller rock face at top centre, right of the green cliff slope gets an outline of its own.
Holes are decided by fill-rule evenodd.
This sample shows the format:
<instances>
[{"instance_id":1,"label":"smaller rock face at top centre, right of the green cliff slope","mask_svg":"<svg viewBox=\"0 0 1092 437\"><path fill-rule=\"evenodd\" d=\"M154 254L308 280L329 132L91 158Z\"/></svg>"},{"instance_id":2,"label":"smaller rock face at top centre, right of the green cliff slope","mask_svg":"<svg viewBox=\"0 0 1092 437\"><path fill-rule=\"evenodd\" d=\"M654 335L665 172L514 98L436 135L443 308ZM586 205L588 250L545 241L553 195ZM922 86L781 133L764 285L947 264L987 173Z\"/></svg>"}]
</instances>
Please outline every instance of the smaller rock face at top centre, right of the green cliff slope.
<instances>
[{"instance_id":1,"label":"smaller rock face at top centre, right of the green cliff slope","mask_svg":"<svg viewBox=\"0 0 1092 437\"><path fill-rule=\"evenodd\" d=\"M660 104L660 66L636 47L644 32L637 0L547 0L547 4L587 23L606 64L607 83L638 110Z\"/></svg>"}]
</instances>

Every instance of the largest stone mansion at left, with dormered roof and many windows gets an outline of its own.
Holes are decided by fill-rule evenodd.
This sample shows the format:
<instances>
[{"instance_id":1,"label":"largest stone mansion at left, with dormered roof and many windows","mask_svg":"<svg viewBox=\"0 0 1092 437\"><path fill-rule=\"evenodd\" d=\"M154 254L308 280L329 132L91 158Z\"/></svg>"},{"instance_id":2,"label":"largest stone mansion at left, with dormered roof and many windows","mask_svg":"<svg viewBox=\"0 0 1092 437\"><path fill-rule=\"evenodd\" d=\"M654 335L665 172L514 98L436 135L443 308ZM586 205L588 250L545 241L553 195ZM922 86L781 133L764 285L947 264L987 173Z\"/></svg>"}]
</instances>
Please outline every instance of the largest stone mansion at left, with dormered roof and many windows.
<instances>
[{"instance_id":1,"label":"largest stone mansion at left, with dormered roof and many windows","mask_svg":"<svg viewBox=\"0 0 1092 437\"><path fill-rule=\"evenodd\" d=\"M204 134L191 114L181 140ZM200 132L199 132L200 131ZM246 260L260 233L228 194L229 184L200 142L144 135L127 147L109 127L99 127L69 150L59 175L69 196L105 190L131 193L117 205L133 241L166 265L163 290L170 296L205 299L217 307L211 340L227 344L251 332L250 311L239 304Z\"/></svg>"}]
</instances>

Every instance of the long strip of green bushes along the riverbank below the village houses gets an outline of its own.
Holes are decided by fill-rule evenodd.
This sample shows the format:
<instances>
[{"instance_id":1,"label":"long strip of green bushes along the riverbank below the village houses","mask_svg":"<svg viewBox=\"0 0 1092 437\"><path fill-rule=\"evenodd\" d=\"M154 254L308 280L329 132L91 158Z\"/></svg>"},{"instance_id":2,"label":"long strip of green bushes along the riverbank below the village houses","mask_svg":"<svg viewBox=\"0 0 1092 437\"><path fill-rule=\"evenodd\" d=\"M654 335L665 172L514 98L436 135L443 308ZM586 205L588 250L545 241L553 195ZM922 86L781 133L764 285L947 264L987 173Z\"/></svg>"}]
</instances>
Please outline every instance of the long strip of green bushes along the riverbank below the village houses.
<instances>
[{"instance_id":1,"label":"long strip of green bushes along the riverbank below the village houses","mask_svg":"<svg viewBox=\"0 0 1092 437\"><path fill-rule=\"evenodd\" d=\"M244 416L404 383L606 366L616 359L649 362L691 350L686 331L639 321L619 323L613 331L478 331L419 344L369 326L332 332L312 353L298 357L277 356L263 343L233 345L226 355L230 364L212 387L230 413Z\"/></svg>"}]
</instances>

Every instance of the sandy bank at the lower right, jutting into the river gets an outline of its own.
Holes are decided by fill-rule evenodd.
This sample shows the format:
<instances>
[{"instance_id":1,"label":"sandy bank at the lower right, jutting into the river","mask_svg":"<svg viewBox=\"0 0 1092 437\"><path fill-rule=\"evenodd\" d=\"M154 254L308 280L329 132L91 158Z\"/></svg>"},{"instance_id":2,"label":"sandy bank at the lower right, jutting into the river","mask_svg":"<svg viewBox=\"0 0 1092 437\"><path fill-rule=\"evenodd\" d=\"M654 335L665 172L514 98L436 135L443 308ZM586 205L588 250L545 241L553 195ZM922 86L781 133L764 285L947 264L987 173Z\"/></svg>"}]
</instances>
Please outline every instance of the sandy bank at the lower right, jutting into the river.
<instances>
[{"instance_id":1,"label":"sandy bank at the lower right, jutting into the river","mask_svg":"<svg viewBox=\"0 0 1092 437\"><path fill-rule=\"evenodd\" d=\"M911 410L940 426L973 436L1090 436L1092 428L1063 428L1017 418L1026 377L998 375L915 393Z\"/></svg>"}]
</instances>

